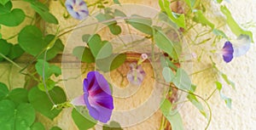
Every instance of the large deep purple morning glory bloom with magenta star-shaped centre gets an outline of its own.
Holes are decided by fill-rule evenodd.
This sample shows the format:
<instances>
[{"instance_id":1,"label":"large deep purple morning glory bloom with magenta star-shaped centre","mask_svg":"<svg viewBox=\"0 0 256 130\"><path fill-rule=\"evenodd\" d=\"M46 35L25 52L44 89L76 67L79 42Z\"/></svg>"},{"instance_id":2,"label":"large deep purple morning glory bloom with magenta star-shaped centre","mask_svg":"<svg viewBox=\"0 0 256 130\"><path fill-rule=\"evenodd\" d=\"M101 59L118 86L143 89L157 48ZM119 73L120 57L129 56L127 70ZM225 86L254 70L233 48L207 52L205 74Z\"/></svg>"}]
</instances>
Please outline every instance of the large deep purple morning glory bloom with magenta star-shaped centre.
<instances>
[{"instance_id":1,"label":"large deep purple morning glory bloom with magenta star-shaped centre","mask_svg":"<svg viewBox=\"0 0 256 130\"><path fill-rule=\"evenodd\" d=\"M84 95L73 99L72 105L86 105L90 116L106 123L113 111L113 97L107 80L97 71L90 71L84 79Z\"/></svg>"}]
</instances>

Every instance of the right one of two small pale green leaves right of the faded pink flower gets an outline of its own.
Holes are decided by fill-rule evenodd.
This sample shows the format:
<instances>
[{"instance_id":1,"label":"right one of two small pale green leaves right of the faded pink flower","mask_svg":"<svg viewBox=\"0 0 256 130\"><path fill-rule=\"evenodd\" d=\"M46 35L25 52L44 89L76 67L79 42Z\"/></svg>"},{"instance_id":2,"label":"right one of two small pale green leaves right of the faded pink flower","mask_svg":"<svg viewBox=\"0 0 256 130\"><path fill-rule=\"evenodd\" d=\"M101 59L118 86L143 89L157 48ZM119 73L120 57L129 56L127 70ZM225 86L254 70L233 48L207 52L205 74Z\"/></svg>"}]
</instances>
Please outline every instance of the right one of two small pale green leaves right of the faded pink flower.
<instances>
[{"instance_id":1,"label":"right one of two small pale green leaves right of the faded pink flower","mask_svg":"<svg viewBox=\"0 0 256 130\"><path fill-rule=\"evenodd\" d=\"M177 69L176 76L173 79L174 85L183 90L191 90L191 81L186 71L181 68Z\"/></svg>"}]
</instances>

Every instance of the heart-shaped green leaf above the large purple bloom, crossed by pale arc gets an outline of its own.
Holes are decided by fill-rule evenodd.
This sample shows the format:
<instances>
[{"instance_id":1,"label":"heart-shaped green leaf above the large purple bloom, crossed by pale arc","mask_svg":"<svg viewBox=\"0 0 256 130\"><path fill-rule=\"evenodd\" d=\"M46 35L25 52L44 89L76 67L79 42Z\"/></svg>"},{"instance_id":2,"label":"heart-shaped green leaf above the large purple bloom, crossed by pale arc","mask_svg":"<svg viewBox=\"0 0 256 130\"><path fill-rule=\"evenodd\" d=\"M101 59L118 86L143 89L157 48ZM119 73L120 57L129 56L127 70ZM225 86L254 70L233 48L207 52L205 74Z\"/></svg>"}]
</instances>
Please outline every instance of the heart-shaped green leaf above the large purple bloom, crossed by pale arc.
<instances>
[{"instance_id":1,"label":"heart-shaped green leaf above the large purple bloom, crossed by pale arc","mask_svg":"<svg viewBox=\"0 0 256 130\"><path fill-rule=\"evenodd\" d=\"M103 41L98 34L90 37L89 40L89 48L91 54L95 57L95 59L104 59L112 54L112 45L108 41Z\"/></svg>"}]
</instances>

